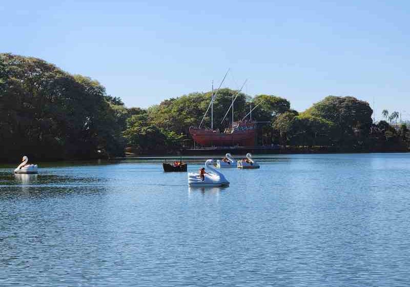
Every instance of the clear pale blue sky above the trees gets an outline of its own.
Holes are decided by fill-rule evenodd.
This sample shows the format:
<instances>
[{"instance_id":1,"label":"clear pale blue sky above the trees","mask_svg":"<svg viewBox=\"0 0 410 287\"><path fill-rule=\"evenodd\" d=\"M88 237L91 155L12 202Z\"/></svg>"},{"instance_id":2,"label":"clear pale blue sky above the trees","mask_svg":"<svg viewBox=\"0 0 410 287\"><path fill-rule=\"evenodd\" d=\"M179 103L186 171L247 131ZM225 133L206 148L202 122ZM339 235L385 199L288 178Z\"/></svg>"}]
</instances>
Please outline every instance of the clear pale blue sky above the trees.
<instances>
[{"instance_id":1,"label":"clear pale blue sky above the trees","mask_svg":"<svg viewBox=\"0 0 410 287\"><path fill-rule=\"evenodd\" d=\"M2 1L1 52L89 76L127 107L218 86L303 111L355 96L410 119L409 1Z\"/></svg>"}]
</instances>

